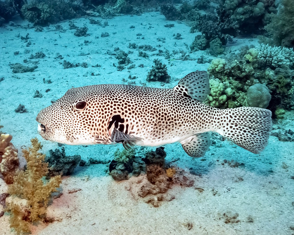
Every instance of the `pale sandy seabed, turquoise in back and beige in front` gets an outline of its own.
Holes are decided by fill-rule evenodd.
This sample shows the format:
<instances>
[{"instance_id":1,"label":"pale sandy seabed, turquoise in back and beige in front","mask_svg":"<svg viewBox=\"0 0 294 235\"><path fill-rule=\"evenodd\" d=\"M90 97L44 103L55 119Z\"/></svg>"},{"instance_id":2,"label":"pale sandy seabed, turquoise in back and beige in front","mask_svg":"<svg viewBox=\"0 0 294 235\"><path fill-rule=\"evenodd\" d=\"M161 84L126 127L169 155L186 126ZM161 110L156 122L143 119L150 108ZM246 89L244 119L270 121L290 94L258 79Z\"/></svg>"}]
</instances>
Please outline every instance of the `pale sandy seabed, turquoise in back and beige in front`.
<instances>
[{"instance_id":1,"label":"pale sandy seabed, turquoise in back and beige in front","mask_svg":"<svg viewBox=\"0 0 294 235\"><path fill-rule=\"evenodd\" d=\"M105 21L99 20L102 23ZM85 18L72 21L79 27L86 24L90 36L74 36L75 30L68 30L68 21L60 24L67 30L65 33L54 31L54 25L51 25L50 29L44 28L43 32L35 32L34 28L26 30L14 26L0 28L0 77L5 78L0 83L1 125L4 125L4 132L13 135L12 142L19 149L28 146L33 137L41 140L43 150L47 154L49 149L57 147L56 143L42 140L37 134L35 117L42 108L50 105L51 100L60 98L73 86L122 84L122 78L128 80L129 74L137 77L136 85L140 85L140 82L146 83L146 75L155 58L161 59L168 66L172 79L167 87L173 87L177 80L193 70L206 70L208 67L208 64L197 64L196 61L168 62L162 57L151 56L158 53L158 50L147 51L150 57L145 59L138 57L137 49L128 48L129 43L153 47L160 44L161 47L156 47L157 49L168 49L171 53L173 50L183 50L188 53L188 46L197 34L189 33L189 27L184 24L166 21L158 12L116 17L108 20L109 26L105 28L91 25ZM26 24L21 23L23 26ZM175 27L166 28L164 24L175 24ZM129 28L131 25L135 28ZM104 32L108 32L110 36L101 38L101 33ZM19 33L21 36L29 33L32 45L26 47L26 43L16 37ZM142 33L142 36L136 36L137 33ZM181 33L184 39L175 40L173 34L176 33ZM95 36L99 38L96 39ZM141 39L142 37L144 39ZM166 42L158 42L158 37L165 37ZM91 43L84 45L84 40ZM235 42L228 45L232 50L253 43L250 39L238 39ZM117 59L106 52L113 52L115 47L126 52L133 51L129 57L136 64L136 68L131 69L130 73L127 69L119 72L113 66L113 63L118 65ZM25 54L25 49L31 52ZM14 56L14 51L19 51L19 55ZM24 64L24 59L38 51L46 55L44 59L32 60L39 61L39 68L32 73L12 73L9 63ZM90 55L79 56L81 52L89 52ZM86 62L88 68L63 69L63 60L54 59L57 53L71 63ZM211 58L202 51L191 53L190 56L199 58L202 54ZM177 56L180 57L181 54L174 58ZM97 63L102 67L91 67ZM141 63L144 68L138 68ZM32 66L31 63L29 66ZM91 76L91 73L99 75ZM52 83L44 84L43 78L51 79ZM160 83L147 83L147 86L160 87ZM51 91L45 93L48 88ZM33 98L36 90L42 93L43 98ZM19 103L25 105L28 113L14 112ZM293 118L286 120L285 125L293 130ZM65 146L67 155L80 154L84 160L89 157L112 159L117 147ZM276 137L270 137L266 150L260 155L254 155L229 142L217 141L206 153L206 161L201 161L188 157L180 144L167 145L167 162L180 157L174 164L184 169L193 167L202 176L196 176L194 187L171 189L169 193L174 195L175 199L162 202L158 208L146 204L144 199L133 197L128 191L131 182L136 181L136 178L115 182L105 173L105 165L77 167L75 174L63 178L63 195L55 199L48 208L49 215L59 221L48 226L40 224L33 234L291 234L293 231L289 227L294 226L294 181L290 178L294 175L293 147L293 142L279 142ZM233 168L228 164L221 165L224 159L243 162L245 166ZM283 162L288 168L282 168ZM242 177L243 181L238 182L238 177ZM135 183L132 184L132 187L135 186ZM204 192L199 192L195 187L203 188ZM68 194L68 190L74 188L82 190ZM6 185L0 180L0 193L5 190ZM215 192L216 195L213 195ZM224 213L238 213L237 219L240 222L225 224ZM6 214L0 218L0 234L13 234L8 218ZM248 218L252 218L253 222L248 222ZM193 224L191 230L187 229L187 223Z\"/></svg>"}]
</instances>

